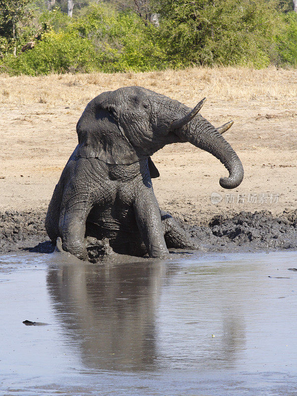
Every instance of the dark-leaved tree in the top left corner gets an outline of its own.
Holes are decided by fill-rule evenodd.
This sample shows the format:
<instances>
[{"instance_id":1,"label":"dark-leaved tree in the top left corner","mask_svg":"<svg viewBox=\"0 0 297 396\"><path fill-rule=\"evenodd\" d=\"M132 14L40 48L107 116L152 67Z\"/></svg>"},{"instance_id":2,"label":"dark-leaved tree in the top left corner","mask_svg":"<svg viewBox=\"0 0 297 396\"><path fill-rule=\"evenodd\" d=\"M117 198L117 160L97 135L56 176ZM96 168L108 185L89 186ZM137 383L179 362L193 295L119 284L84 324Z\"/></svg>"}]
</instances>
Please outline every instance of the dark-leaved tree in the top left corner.
<instances>
[{"instance_id":1,"label":"dark-leaved tree in the top left corner","mask_svg":"<svg viewBox=\"0 0 297 396\"><path fill-rule=\"evenodd\" d=\"M7 41L7 49L12 47L16 56L19 37L18 24L30 18L26 6L30 0L0 0L0 38Z\"/></svg>"}]
</instances>

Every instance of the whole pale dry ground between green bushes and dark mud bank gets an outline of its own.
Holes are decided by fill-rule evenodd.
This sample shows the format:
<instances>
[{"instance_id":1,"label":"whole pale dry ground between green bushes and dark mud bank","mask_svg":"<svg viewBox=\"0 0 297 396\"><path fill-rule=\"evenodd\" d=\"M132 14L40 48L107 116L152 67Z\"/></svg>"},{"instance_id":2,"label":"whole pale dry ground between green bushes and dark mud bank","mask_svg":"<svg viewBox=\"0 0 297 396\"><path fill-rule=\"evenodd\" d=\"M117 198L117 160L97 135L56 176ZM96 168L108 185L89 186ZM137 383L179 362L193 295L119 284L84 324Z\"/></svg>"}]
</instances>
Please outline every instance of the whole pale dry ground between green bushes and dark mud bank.
<instances>
[{"instance_id":1,"label":"whole pale dry ground between green bushes and dark mud bank","mask_svg":"<svg viewBox=\"0 0 297 396\"><path fill-rule=\"evenodd\" d=\"M103 91L139 85L194 106L219 126L241 158L245 179L223 190L227 175L212 155L190 144L153 155L160 207L205 223L216 213L297 207L297 71L193 68L126 74L0 75L0 211L45 208L77 144L75 125L89 100ZM211 202L211 194L222 200Z\"/></svg>"}]
</instances>

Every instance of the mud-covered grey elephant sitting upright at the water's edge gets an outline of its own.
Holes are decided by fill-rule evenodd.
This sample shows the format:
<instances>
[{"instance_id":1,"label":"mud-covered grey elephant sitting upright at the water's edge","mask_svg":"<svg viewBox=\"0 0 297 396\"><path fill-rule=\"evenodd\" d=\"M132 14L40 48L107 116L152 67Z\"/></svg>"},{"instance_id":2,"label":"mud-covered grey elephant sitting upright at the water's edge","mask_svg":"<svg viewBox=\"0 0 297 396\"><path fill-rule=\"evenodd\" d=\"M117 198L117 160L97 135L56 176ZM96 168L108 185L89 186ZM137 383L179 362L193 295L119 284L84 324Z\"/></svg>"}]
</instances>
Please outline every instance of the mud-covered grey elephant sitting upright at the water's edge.
<instances>
[{"instance_id":1,"label":"mud-covered grey elephant sitting upright at the water's edge","mask_svg":"<svg viewBox=\"0 0 297 396\"><path fill-rule=\"evenodd\" d=\"M63 250L81 260L106 238L115 252L134 256L162 258L169 247L198 248L159 209L151 183L159 172L150 157L165 145L190 142L227 168L221 187L240 185L243 165L222 136L233 121L215 128L198 113L204 101L191 109L142 87L92 99L78 120L78 145L49 203L45 225L51 241L60 237Z\"/></svg>"}]
</instances>

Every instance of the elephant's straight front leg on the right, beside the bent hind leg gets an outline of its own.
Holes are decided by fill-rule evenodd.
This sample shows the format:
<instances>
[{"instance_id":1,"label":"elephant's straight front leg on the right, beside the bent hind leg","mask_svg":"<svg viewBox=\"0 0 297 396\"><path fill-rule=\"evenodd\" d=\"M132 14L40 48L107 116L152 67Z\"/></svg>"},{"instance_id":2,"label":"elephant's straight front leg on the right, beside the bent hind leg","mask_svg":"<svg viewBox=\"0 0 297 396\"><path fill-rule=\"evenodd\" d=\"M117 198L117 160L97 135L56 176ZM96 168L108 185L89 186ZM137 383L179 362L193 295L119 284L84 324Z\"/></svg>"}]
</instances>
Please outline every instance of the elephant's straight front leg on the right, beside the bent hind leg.
<instances>
[{"instance_id":1,"label":"elephant's straight front leg on the right, beside the bent hind leg","mask_svg":"<svg viewBox=\"0 0 297 396\"><path fill-rule=\"evenodd\" d=\"M168 254L158 202L151 188L141 188L135 197L136 222L147 247L149 257L164 257Z\"/></svg>"}]
</instances>

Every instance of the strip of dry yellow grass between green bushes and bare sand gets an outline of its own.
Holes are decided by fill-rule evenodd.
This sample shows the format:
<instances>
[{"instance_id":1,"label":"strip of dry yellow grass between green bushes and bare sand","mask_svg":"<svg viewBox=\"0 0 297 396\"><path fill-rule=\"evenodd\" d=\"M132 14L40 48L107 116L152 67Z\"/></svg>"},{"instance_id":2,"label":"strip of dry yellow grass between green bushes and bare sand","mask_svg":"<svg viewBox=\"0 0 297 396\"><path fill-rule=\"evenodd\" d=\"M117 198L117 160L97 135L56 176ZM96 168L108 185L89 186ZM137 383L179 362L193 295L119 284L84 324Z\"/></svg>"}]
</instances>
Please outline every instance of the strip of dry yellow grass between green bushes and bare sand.
<instances>
[{"instance_id":1,"label":"strip of dry yellow grass between green bushes and bare sand","mask_svg":"<svg viewBox=\"0 0 297 396\"><path fill-rule=\"evenodd\" d=\"M233 67L189 68L149 73L52 74L44 77L0 75L0 103L80 108L102 91L143 86L188 105L202 96L210 102L297 99L297 71Z\"/></svg>"}]
</instances>

